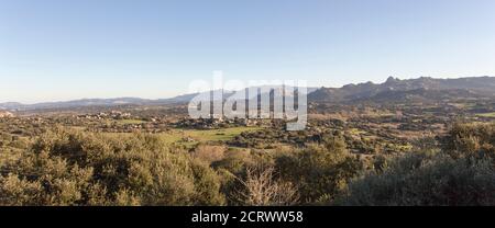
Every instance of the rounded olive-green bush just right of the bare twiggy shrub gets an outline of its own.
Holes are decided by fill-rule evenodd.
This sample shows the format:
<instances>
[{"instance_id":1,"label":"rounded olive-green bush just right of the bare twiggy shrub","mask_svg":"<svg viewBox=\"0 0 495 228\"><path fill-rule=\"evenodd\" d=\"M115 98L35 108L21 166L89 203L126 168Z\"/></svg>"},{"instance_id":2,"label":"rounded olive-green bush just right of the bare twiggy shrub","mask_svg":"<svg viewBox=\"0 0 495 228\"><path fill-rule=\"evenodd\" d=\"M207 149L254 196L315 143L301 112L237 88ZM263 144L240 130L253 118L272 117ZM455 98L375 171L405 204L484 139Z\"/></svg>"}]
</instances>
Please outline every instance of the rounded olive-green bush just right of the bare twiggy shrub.
<instances>
[{"instance_id":1,"label":"rounded olive-green bush just right of the bare twiggy shrub","mask_svg":"<svg viewBox=\"0 0 495 228\"><path fill-rule=\"evenodd\" d=\"M349 153L337 136L276 160L276 170L283 180L298 186L302 203L333 198L363 169L363 162Z\"/></svg>"}]
</instances>

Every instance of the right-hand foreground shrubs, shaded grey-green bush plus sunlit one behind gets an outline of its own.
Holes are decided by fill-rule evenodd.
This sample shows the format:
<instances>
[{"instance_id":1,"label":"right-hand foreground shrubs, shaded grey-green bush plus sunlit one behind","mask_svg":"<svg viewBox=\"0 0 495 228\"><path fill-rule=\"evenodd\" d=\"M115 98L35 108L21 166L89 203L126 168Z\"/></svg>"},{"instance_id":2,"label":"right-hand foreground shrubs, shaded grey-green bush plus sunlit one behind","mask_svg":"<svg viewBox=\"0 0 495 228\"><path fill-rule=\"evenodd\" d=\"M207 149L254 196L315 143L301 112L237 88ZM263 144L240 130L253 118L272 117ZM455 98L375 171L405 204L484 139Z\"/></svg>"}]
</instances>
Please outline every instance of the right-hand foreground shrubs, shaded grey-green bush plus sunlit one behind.
<instances>
[{"instance_id":1,"label":"right-hand foreground shrubs, shaded grey-green bush plus sunlit one behind","mask_svg":"<svg viewBox=\"0 0 495 228\"><path fill-rule=\"evenodd\" d=\"M454 124L443 148L382 160L342 205L495 205L495 124Z\"/></svg>"}]
</instances>

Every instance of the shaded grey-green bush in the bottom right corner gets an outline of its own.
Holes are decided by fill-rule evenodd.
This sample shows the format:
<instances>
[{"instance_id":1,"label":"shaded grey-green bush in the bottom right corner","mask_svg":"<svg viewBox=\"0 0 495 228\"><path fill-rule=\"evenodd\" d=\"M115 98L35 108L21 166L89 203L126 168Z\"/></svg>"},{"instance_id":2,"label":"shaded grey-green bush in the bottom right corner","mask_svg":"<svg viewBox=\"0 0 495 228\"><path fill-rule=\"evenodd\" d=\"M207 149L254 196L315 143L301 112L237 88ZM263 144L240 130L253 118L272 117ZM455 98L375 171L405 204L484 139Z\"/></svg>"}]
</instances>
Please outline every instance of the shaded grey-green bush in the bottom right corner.
<instances>
[{"instance_id":1,"label":"shaded grey-green bush in the bottom right corner","mask_svg":"<svg viewBox=\"0 0 495 228\"><path fill-rule=\"evenodd\" d=\"M495 169L490 158L452 159L409 155L349 185L339 205L495 205Z\"/></svg>"}]
</instances>

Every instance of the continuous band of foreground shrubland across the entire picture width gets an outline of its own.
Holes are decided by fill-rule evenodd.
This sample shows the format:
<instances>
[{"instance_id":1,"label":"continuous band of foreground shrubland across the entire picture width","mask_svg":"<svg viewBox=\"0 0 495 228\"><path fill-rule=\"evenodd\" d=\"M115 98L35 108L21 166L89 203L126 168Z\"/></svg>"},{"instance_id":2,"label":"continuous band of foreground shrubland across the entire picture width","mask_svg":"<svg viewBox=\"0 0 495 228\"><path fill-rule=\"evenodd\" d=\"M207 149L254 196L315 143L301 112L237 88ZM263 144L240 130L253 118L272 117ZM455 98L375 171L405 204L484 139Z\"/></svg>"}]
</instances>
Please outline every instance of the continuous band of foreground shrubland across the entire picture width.
<instances>
[{"instance_id":1,"label":"continuous band of foreground shrubland across the entire picture width","mask_svg":"<svg viewBox=\"0 0 495 228\"><path fill-rule=\"evenodd\" d=\"M0 147L15 155L0 163L0 204L495 205L493 124L455 124L414 152L360 156L345 141L336 130L299 146L189 149L55 128Z\"/></svg>"}]
</instances>

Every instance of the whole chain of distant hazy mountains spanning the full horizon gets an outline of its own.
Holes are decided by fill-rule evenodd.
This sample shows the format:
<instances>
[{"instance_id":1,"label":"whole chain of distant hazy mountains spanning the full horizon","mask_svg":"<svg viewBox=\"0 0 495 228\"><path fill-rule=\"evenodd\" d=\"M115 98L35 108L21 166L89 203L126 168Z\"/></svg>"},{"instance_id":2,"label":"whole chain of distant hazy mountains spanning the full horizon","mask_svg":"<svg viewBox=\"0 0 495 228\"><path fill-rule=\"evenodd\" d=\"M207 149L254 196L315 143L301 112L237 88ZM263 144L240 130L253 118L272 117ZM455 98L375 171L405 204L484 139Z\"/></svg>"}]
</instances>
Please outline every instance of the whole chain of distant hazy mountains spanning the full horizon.
<instances>
[{"instance_id":1,"label":"whole chain of distant hazy mountains spanning the full horizon","mask_svg":"<svg viewBox=\"0 0 495 228\"><path fill-rule=\"evenodd\" d=\"M267 88L282 89L279 86ZM148 100L140 98L82 99L65 102L22 104L0 103L0 110L67 109L79 106L153 105L186 103L198 94L209 98L210 92L189 93L170 99ZM436 79L421 77L400 80L389 77L384 83L365 82L346 84L341 88L307 88L309 102L408 102L444 100L449 98L495 98L495 77L471 77L458 79ZM234 94L224 91L224 98Z\"/></svg>"}]
</instances>

